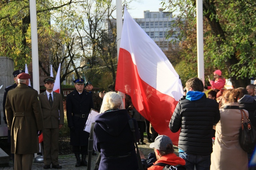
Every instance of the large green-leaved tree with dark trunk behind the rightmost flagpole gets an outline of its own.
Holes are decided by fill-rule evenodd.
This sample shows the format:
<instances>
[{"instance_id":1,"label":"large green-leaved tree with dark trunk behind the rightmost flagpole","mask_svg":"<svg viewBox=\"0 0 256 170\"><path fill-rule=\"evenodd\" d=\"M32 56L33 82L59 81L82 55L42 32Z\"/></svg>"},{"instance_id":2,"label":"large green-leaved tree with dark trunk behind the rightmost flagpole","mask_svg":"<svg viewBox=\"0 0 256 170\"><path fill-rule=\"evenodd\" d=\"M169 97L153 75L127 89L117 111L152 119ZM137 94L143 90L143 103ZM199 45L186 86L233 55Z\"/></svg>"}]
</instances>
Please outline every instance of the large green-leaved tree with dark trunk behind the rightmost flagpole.
<instances>
[{"instance_id":1,"label":"large green-leaved tree with dark trunk behind the rightmost flagpole","mask_svg":"<svg viewBox=\"0 0 256 170\"><path fill-rule=\"evenodd\" d=\"M176 26L181 30L181 63L194 65L196 0L163 0L162 5L169 11L179 11ZM256 76L255 11L256 1L203 0L205 73L221 69L235 88L245 87L249 78Z\"/></svg>"}]
</instances>

